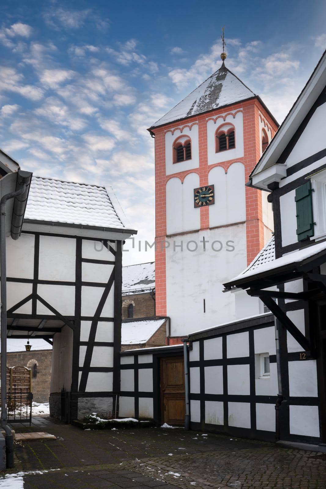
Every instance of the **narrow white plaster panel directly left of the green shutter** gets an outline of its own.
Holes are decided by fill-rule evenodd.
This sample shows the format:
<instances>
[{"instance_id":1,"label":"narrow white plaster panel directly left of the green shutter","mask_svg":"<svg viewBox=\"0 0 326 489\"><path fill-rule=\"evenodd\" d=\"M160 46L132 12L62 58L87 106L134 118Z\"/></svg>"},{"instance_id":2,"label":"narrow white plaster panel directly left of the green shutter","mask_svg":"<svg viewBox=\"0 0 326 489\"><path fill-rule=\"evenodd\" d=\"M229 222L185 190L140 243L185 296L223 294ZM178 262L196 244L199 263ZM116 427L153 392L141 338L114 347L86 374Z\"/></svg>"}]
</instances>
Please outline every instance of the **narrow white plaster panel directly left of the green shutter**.
<instances>
[{"instance_id":1,"label":"narrow white plaster panel directly left of the green shutter","mask_svg":"<svg viewBox=\"0 0 326 489\"><path fill-rule=\"evenodd\" d=\"M280 197L282 246L298 243L295 190Z\"/></svg>"}]
</instances>

